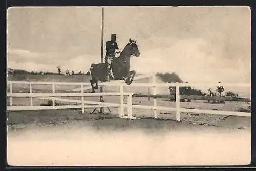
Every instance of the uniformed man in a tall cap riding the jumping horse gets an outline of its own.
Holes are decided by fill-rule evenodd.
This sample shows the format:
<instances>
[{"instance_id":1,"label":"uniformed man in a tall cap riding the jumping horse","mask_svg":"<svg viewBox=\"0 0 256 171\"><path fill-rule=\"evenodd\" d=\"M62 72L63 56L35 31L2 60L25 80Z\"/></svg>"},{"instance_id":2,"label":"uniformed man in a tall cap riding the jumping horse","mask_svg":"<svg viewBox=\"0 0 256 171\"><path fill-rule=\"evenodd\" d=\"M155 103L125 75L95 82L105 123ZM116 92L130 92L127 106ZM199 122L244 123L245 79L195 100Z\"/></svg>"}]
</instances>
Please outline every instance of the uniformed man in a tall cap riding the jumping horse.
<instances>
[{"instance_id":1,"label":"uniformed man in a tall cap riding the jumping horse","mask_svg":"<svg viewBox=\"0 0 256 171\"><path fill-rule=\"evenodd\" d=\"M116 34L111 34L111 40L106 42L106 56L105 63L108 64L107 70L107 80L109 80L109 72L110 66L113 58L115 58L115 53L120 53L117 42L116 42Z\"/></svg>"}]
</instances>

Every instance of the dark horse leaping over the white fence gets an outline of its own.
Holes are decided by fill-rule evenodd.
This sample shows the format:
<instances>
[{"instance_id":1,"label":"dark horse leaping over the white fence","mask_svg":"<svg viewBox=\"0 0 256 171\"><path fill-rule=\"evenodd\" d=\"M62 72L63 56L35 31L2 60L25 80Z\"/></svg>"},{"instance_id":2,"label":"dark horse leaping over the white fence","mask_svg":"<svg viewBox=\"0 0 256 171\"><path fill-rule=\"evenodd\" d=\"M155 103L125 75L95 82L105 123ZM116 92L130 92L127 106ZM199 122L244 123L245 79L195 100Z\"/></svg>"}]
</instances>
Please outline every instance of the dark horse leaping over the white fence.
<instances>
[{"instance_id":1,"label":"dark horse leaping over the white fence","mask_svg":"<svg viewBox=\"0 0 256 171\"><path fill-rule=\"evenodd\" d=\"M118 58L114 58L111 62L112 75L110 80L125 80L127 85L130 85L134 79L136 72L130 71L130 58L131 56L139 57L140 51L136 41L129 39L129 43L124 47ZM91 86L92 93L95 93L95 89L98 89L98 81L106 82L108 63L91 64ZM93 84L96 84L95 87Z\"/></svg>"}]
</instances>

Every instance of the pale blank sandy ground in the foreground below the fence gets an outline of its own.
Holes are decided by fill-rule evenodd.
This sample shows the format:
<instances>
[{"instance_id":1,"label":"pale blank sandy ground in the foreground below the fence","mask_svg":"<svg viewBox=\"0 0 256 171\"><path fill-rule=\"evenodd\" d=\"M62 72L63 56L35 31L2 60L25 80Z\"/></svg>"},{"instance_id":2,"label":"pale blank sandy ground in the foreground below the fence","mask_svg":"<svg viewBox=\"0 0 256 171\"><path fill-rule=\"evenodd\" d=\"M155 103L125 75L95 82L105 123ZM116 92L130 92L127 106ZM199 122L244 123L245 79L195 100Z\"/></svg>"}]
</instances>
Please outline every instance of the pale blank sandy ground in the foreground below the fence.
<instances>
[{"instance_id":1,"label":"pale blank sandy ground in the foreground below the fence","mask_svg":"<svg viewBox=\"0 0 256 171\"><path fill-rule=\"evenodd\" d=\"M8 131L11 165L226 165L250 162L250 131L104 119Z\"/></svg>"}]
</instances>

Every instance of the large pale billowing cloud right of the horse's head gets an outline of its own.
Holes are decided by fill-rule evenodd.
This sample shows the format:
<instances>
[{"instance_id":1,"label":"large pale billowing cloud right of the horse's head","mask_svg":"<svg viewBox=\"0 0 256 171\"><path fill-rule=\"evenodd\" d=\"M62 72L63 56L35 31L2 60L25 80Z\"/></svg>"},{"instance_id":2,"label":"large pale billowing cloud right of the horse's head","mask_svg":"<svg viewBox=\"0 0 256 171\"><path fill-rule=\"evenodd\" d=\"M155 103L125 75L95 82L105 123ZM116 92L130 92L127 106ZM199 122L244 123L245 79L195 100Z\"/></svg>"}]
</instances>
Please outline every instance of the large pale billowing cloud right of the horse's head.
<instances>
[{"instance_id":1,"label":"large pale billowing cloud right of the horse's head","mask_svg":"<svg viewBox=\"0 0 256 171\"><path fill-rule=\"evenodd\" d=\"M212 47L201 38L178 40L172 47L156 48L131 58L137 72L176 72L184 81L247 81L250 62L223 58L221 45ZM247 68L246 68L247 66Z\"/></svg>"}]
</instances>

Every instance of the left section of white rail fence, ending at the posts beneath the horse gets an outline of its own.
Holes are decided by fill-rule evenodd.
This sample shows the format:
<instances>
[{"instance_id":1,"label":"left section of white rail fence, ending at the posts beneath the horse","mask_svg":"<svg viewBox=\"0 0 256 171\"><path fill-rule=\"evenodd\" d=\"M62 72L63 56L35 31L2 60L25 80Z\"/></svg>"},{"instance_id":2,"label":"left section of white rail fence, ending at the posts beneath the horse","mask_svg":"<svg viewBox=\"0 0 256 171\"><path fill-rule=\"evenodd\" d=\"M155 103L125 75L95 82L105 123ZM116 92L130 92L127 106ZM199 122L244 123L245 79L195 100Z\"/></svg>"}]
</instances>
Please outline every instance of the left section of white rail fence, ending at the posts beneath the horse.
<instances>
[{"instance_id":1,"label":"left section of white rail fence, ending at the posts beneath the horse","mask_svg":"<svg viewBox=\"0 0 256 171\"><path fill-rule=\"evenodd\" d=\"M22 110L50 110L50 109L82 109L82 113L84 113L85 108L97 108L97 107L118 107L119 108L119 117L121 118L129 118L135 119L132 116L132 105L127 107L127 116L124 115L123 108L123 98L127 96L128 104L132 104L132 95L133 93L122 92L122 93L84 93L83 86L87 83L57 83L57 82L25 82L25 81L8 81L10 86L10 92L7 92L7 97L10 98L10 106L7 106L7 110L9 111L22 111ZM30 93L13 93L13 84L29 84ZM32 93L32 85L33 84L44 84L44 85L52 85L52 93ZM81 93L55 93L55 85L81 85ZM121 103L104 103L104 102L93 102L93 101L84 101L84 97L92 97L92 96L120 96ZM12 98L13 97L30 97L30 106L12 106ZM33 97L40 99L52 99L52 106L33 106ZM57 98L56 98L57 97ZM63 99L58 97L81 97L81 100L73 100L73 99ZM66 101L66 102L78 102L81 105L61 105L55 106L55 100ZM93 105L85 105L85 104L93 104Z\"/></svg>"}]
</instances>

